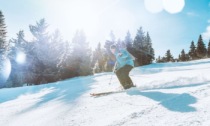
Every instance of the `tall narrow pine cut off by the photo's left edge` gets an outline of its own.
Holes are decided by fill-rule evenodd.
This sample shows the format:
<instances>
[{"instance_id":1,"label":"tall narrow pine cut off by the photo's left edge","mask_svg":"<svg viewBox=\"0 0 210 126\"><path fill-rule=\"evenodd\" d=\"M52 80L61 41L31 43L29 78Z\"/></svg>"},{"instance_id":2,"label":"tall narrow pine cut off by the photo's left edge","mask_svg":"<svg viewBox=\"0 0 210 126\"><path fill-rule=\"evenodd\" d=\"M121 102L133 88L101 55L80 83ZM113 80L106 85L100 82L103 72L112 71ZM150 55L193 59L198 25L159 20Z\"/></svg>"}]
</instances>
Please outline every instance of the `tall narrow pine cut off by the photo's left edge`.
<instances>
[{"instance_id":1,"label":"tall narrow pine cut off by the photo's left edge","mask_svg":"<svg viewBox=\"0 0 210 126\"><path fill-rule=\"evenodd\" d=\"M0 10L0 56L6 57L8 51L8 43L6 41L6 24L3 13Z\"/></svg>"}]
</instances>

